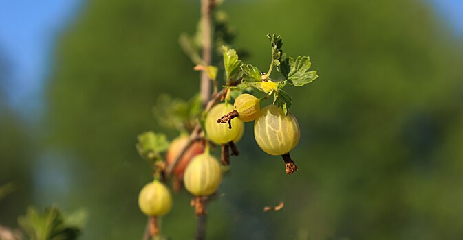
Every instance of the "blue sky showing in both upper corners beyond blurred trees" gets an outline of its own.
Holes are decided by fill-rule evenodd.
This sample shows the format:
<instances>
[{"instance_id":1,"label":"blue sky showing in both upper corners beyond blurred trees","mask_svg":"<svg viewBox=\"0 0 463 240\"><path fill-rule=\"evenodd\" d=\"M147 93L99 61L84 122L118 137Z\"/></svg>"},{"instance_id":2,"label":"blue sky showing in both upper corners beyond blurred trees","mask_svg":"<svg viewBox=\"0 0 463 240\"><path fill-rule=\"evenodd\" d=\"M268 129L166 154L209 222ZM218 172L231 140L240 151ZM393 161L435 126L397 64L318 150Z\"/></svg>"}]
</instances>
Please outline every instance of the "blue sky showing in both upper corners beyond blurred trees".
<instances>
[{"instance_id":1,"label":"blue sky showing in both upper corners beyond blurred trees","mask_svg":"<svg viewBox=\"0 0 463 240\"><path fill-rule=\"evenodd\" d=\"M0 53L10 73L10 104L23 109L40 98L54 41L83 0L0 0ZM438 14L463 35L463 0L429 0ZM29 106L30 107L30 106Z\"/></svg>"}]
</instances>

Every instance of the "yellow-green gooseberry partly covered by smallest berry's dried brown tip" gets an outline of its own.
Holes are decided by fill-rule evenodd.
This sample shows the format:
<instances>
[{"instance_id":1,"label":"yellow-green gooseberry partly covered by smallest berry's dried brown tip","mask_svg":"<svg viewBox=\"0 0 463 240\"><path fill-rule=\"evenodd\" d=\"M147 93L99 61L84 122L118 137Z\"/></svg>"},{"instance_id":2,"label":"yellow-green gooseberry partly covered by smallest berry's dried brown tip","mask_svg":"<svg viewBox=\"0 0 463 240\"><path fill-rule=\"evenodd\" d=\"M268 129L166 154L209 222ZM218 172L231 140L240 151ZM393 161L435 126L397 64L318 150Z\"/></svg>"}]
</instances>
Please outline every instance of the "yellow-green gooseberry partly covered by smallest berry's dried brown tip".
<instances>
[{"instance_id":1,"label":"yellow-green gooseberry partly covered by smallest berry's dried brown tip","mask_svg":"<svg viewBox=\"0 0 463 240\"><path fill-rule=\"evenodd\" d=\"M233 125L233 128L228 128L228 125L226 124L217 123L217 119L231 111L233 111L233 106L230 104L217 104L208 112L204 123L206 125L208 139L219 145L226 144L237 139L237 136L239 136L241 131L243 131L242 129L244 129L243 121L237 118L231 119L231 125Z\"/></svg>"}]
</instances>

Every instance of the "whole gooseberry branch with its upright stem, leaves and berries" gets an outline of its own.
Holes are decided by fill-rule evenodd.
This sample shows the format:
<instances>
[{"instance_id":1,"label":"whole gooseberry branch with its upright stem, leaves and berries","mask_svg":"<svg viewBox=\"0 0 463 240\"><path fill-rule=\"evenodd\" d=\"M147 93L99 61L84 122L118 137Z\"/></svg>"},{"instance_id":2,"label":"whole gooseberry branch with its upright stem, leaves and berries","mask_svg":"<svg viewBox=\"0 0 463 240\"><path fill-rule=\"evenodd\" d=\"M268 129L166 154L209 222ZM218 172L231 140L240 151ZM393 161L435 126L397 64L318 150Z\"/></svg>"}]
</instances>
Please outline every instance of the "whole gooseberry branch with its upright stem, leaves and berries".
<instances>
[{"instance_id":1,"label":"whole gooseberry branch with its upright stem, leaves and berries","mask_svg":"<svg viewBox=\"0 0 463 240\"><path fill-rule=\"evenodd\" d=\"M179 39L195 64L193 69L201 71L199 94L189 101L160 97L153 108L160 125L178 130L180 136L173 141L162 133L144 132L138 136L136 148L151 166L154 178L138 196L140 210L149 216L143 239L160 237L158 218L172 206L171 191L166 185L171 180L174 191L184 187L193 195L191 206L197 215L195 239L205 239L206 204L219 196L217 189L223 174L211 148L220 146L220 162L230 165L230 154L239 155L235 143L243 137L244 122L254 121L257 145L267 154L281 156L287 174L298 170L290 151L296 147L301 133L290 111L292 99L283 88L304 86L318 77L310 68L310 58L287 57L281 36L268 34L271 61L267 73L244 63L239 51L230 47L235 32L226 23L226 14L215 11L217 5L215 0L201 0L202 15L196 38L182 34ZM222 69L223 77L218 74ZM221 89L217 87L219 82ZM273 101L261 108L261 101L269 97Z\"/></svg>"}]
</instances>

